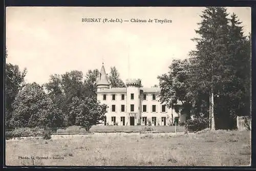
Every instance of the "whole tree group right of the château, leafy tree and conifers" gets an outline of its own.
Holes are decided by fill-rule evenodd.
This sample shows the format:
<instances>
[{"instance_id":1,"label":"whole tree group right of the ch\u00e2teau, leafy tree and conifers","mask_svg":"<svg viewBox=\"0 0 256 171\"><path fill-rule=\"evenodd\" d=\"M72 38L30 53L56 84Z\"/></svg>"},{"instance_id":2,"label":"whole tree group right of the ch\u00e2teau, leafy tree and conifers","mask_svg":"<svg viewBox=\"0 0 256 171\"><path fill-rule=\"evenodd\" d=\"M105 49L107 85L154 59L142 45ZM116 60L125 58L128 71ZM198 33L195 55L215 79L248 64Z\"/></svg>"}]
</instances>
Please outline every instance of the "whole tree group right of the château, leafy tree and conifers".
<instances>
[{"instance_id":1,"label":"whole tree group right of the ch\u00e2teau, leafy tree and conifers","mask_svg":"<svg viewBox=\"0 0 256 171\"><path fill-rule=\"evenodd\" d=\"M181 100L189 116L209 118L214 94L216 128L234 129L237 116L250 116L251 37L226 8L207 7L200 16L198 37L191 39L196 50L158 76L160 100L169 107Z\"/></svg>"}]
</instances>

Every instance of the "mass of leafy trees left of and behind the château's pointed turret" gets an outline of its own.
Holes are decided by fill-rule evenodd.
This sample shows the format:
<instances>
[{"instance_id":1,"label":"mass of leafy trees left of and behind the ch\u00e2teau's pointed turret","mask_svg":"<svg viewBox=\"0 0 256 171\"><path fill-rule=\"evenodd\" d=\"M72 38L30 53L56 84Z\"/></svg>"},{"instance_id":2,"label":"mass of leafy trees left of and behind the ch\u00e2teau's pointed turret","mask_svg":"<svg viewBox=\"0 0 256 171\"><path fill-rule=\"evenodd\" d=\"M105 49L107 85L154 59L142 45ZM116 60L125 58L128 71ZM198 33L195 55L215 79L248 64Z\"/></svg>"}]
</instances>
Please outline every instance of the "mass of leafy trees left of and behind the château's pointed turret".
<instances>
[{"instance_id":1,"label":"mass of leafy trees left of and behind the ch\u00e2teau's pointed turret","mask_svg":"<svg viewBox=\"0 0 256 171\"><path fill-rule=\"evenodd\" d=\"M6 57L8 54L6 53ZM27 69L6 65L6 127L66 127L80 125L87 130L103 120L107 106L97 101L99 71L89 70L50 75L41 86L26 83ZM112 87L125 87L116 67L108 77Z\"/></svg>"}]
</instances>

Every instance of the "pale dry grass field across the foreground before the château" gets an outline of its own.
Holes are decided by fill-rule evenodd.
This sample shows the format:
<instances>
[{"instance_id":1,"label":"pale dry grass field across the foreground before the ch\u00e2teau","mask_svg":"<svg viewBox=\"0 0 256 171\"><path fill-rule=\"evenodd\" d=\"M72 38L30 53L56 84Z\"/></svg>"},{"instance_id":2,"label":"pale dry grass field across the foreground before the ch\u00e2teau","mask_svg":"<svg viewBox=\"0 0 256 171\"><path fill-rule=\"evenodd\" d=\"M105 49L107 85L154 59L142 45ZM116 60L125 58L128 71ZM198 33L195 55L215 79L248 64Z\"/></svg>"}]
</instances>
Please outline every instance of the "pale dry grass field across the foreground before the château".
<instances>
[{"instance_id":1,"label":"pale dry grass field across the foreground before the ch\u00e2teau","mask_svg":"<svg viewBox=\"0 0 256 171\"><path fill-rule=\"evenodd\" d=\"M76 135L6 141L7 165L239 166L250 165L250 132L189 135ZM19 159L27 156L29 159ZM34 159L31 159L34 156ZM53 159L53 156L62 159ZM48 157L48 159L36 159ZM51 159L50 159L51 157Z\"/></svg>"}]
</instances>

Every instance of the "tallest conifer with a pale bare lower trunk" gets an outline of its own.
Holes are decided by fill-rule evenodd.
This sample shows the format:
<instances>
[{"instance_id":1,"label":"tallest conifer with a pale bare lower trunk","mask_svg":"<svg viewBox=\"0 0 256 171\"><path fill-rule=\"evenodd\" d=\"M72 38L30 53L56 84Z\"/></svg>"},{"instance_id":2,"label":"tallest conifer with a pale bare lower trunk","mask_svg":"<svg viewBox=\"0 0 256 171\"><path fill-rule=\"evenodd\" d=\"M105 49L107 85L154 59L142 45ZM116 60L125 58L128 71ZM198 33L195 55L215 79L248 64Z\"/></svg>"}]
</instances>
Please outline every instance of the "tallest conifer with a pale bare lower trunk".
<instances>
[{"instance_id":1,"label":"tallest conifer with a pale bare lower trunk","mask_svg":"<svg viewBox=\"0 0 256 171\"><path fill-rule=\"evenodd\" d=\"M193 63L193 79L195 79L203 93L209 92L211 129L215 129L214 95L220 92L223 81L227 79L223 73L230 68L225 65L228 59L228 14L225 8L207 7L202 22L196 33L200 38L192 40L197 42L197 50L191 51ZM200 74L198 74L200 73Z\"/></svg>"}]
</instances>

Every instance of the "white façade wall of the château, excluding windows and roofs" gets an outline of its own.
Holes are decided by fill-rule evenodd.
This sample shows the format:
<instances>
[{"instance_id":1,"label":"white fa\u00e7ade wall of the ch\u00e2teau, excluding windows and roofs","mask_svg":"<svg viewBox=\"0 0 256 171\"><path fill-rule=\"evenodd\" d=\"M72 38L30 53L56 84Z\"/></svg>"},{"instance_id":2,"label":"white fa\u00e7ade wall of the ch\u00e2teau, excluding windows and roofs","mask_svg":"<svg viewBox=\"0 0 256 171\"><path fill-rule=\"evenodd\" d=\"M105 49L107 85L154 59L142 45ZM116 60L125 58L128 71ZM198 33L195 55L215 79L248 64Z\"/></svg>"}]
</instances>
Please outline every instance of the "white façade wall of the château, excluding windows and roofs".
<instances>
[{"instance_id":1,"label":"white fa\u00e7ade wall of the ch\u00e2teau, excluding windows and roofs","mask_svg":"<svg viewBox=\"0 0 256 171\"><path fill-rule=\"evenodd\" d=\"M131 93L134 94L134 100L131 100ZM103 100L103 94L106 94L106 100ZM112 94L116 95L116 99L112 100ZM124 94L124 100L121 100L121 94ZM165 112L162 112L162 104L160 103L159 97L156 96L156 100L152 100L152 94L153 93L145 93L147 94L146 100L143 100L143 95L140 95L141 99L141 106L139 109L140 99L139 99L140 89L139 88L127 88L127 94L126 93L101 93L97 92L97 99L100 101L100 103L104 103L109 106L107 109L106 115L106 123L109 123L110 125L112 123L111 117L116 117L116 123L118 125L122 125L121 123L121 117L125 117L125 125L130 125L130 105L134 104L134 113L137 113L135 118L135 125L140 122L140 116L139 113L141 111L141 124L142 123L142 117L147 117L147 119L152 120L152 117L156 117L156 125L163 125L163 122L161 120L162 117L166 117L166 125L172 124L172 113L173 113L173 120L175 117L180 116L179 122L184 122L186 119L186 115L178 115L178 113L175 112L175 109L168 109L167 106L165 107ZM112 112L112 104L116 105L116 111ZM121 112L121 104L125 105L124 112ZM152 112L152 105L156 105L156 112ZM143 105L146 105L147 111L143 112ZM139 111L140 110L140 111Z\"/></svg>"}]
</instances>

